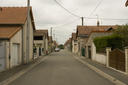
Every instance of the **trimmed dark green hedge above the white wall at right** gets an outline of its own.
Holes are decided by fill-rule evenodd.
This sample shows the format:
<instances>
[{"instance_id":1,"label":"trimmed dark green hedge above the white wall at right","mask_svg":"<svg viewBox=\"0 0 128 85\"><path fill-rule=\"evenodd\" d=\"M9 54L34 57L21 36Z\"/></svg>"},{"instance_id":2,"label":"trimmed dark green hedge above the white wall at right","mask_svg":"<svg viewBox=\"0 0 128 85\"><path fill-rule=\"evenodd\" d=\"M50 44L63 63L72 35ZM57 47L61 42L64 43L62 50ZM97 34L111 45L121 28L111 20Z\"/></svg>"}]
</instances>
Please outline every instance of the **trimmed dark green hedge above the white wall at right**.
<instances>
[{"instance_id":1,"label":"trimmed dark green hedge above the white wall at right","mask_svg":"<svg viewBox=\"0 0 128 85\"><path fill-rule=\"evenodd\" d=\"M118 35L96 37L93 40L96 46L96 51L99 53L104 53L106 51L106 47L111 47L112 49L123 49L122 41L123 38Z\"/></svg>"}]
</instances>

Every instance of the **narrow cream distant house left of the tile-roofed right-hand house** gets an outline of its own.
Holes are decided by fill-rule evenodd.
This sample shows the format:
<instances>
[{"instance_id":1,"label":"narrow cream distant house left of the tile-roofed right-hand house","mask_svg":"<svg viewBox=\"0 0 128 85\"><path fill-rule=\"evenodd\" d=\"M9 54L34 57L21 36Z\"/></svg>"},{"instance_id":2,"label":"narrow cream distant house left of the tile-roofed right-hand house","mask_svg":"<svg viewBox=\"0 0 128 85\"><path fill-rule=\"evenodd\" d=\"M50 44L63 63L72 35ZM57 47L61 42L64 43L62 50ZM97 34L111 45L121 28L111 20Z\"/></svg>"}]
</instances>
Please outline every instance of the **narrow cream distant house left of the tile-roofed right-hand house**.
<instances>
[{"instance_id":1,"label":"narrow cream distant house left of the tile-roofed right-hand house","mask_svg":"<svg viewBox=\"0 0 128 85\"><path fill-rule=\"evenodd\" d=\"M78 42L76 33L72 33L72 52L77 53L78 52Z\"/></svg>"}]
</instances>

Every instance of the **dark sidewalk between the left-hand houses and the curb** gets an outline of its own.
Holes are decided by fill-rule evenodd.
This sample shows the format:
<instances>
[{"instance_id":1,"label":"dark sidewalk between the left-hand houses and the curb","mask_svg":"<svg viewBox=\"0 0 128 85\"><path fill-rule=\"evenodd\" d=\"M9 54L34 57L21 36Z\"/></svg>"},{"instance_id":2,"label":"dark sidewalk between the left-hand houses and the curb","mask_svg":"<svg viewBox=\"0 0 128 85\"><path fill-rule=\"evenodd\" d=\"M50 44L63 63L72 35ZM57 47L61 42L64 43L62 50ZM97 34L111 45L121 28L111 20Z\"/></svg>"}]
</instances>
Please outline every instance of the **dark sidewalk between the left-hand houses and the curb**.
<instances>
[{"instance_id":1,"label":"dark sidewalk between the left-hand houses and the curb","mask_svg":"<svg viewBox=\"0 0 128 85\"><path fill-rule=\"evenodd\" d=\"M35 63L39 62L42 58L44 58L44 57L37 58L34 61L32 61L26 65L20 65L20 66L12 68L10 70L0 72L0 82L3 82L4 80L14 76L15 74L22 72L23 70L25 70L25 69L29 68L30 66L34 65Z\"/></svg>"}]
</instances>

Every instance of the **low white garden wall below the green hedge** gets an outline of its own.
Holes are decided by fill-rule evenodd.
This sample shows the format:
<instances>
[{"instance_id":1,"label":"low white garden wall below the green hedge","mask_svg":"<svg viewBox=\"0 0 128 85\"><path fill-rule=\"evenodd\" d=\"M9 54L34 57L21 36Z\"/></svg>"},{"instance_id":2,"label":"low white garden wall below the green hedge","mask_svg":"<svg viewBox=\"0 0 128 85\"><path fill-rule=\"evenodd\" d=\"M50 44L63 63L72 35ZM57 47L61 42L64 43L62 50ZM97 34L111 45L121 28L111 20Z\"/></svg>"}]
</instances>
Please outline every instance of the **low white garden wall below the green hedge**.
<instances>
[{"instance_id":1,"label":"low white garden wall below the green hedge","mask_svg":"<svg viewBox=\"0 0 128 85\"><path fill-rule=\"evenodd\" d=\"M107 58L106 55L96 53L96 47L95 47L94 43L92 43L92 60L106 65L106 58Z\"/></svg>"}]
</instances>

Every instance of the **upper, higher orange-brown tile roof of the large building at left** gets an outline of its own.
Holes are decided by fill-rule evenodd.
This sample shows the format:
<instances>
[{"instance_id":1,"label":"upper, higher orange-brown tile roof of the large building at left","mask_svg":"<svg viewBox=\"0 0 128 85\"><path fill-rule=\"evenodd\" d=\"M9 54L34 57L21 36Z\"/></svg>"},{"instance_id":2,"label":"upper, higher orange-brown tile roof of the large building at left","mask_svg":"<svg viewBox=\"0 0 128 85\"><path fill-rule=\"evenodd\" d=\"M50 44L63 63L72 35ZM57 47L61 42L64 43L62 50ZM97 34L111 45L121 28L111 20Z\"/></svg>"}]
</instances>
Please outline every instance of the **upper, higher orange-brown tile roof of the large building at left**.
<instances>
[{"instance_id":1,"label":"upper, higher orange-brown tile roof of the large building at left","mask_svg":"<svg viewBox=\"0 0 128 85\"><path fill-rule=\"evenodd\" d=\"M0 7L0 24L25 24L27 7ZM32 7L30 10L32 25L35 29Z\"/></svg>"}]
</instances>

